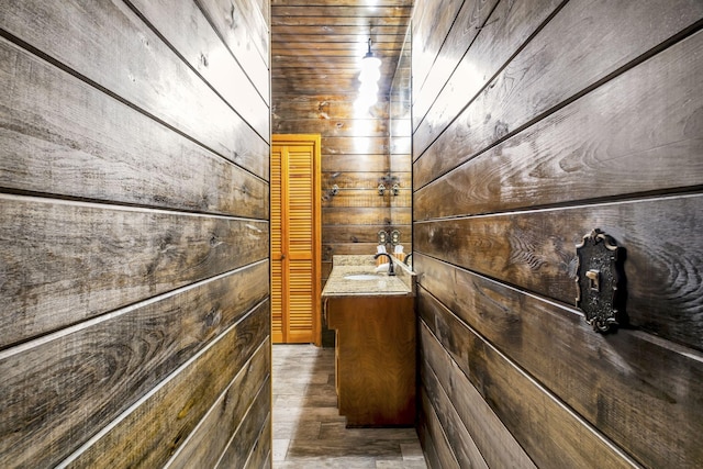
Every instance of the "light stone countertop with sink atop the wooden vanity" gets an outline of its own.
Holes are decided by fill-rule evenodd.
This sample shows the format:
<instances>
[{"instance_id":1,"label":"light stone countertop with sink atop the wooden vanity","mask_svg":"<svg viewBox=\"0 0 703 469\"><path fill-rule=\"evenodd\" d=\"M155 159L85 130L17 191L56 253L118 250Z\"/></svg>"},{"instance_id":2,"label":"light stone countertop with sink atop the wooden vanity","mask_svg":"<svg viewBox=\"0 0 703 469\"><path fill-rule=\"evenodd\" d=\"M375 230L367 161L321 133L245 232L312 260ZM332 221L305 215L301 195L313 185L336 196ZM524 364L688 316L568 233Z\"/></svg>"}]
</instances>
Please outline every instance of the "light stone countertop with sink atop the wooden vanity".
<instances>
[{"instance_id":1,"label":"light stone countertop with sink atop the wooden vanity","mask_svg":"<svg viewBox=\"0 0 703 469\"><path fill-rule=\"evenodd\" d=\"M388 259L388 258L387 258ZM388 270L375 272L373 256L334 256L332 272L327 279L322 298L354 295L414 295L415 273L404 264L394 260L397 275L389 276ZM371 275L370 280L350 280L353 275Z\"/></svg>"}]
</instances>

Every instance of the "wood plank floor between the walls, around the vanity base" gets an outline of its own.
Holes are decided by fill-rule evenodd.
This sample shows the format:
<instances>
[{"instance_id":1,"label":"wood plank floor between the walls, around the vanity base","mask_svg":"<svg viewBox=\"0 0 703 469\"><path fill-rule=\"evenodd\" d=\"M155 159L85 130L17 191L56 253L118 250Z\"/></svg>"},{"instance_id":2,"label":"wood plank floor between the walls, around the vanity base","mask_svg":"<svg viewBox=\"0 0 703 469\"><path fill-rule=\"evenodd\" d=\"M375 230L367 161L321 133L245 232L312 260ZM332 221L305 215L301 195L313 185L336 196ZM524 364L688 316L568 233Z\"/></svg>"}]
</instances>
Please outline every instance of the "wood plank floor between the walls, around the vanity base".
<instances>
[{"instance_id":1,"label":"wood plank floor between the walls, around the vanity base","mask_svg":"<svg viewBox=\"0 0 703 469\"><path fill-rule=\"evenodd\" d=\"M275 345L274 468L426 468L414 428L346 428L334 349Z\"/></svg>"}]
</instances>

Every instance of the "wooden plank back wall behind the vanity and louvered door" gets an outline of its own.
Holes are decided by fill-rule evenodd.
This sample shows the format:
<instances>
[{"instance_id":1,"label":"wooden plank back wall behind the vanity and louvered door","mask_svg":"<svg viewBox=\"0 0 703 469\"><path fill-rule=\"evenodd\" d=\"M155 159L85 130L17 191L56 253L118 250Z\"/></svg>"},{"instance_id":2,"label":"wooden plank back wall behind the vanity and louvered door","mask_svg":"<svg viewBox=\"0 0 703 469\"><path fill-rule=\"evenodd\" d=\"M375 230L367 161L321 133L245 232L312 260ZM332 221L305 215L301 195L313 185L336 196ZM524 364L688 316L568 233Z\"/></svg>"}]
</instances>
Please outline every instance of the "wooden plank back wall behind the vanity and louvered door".
<instances>
[{"instance_id":1,"label":"wooden plank back wall behind the vanity and louvered door","mask_svg":"<svg viewBox=\"0 0 703 469\"><path fill-rule=\"evenodd\" d=\"M337 254L373 254L380 230L390 232L389 100L383 98L366 115L355 114L356 93L289 94L274 89L274 133L320 134L322 139L322 286ZM338 187L336 196L333 186ZM410 224L410 222L408 222ZM323 345L334 331L323 330Z\"/></svg>"}]
</instances>

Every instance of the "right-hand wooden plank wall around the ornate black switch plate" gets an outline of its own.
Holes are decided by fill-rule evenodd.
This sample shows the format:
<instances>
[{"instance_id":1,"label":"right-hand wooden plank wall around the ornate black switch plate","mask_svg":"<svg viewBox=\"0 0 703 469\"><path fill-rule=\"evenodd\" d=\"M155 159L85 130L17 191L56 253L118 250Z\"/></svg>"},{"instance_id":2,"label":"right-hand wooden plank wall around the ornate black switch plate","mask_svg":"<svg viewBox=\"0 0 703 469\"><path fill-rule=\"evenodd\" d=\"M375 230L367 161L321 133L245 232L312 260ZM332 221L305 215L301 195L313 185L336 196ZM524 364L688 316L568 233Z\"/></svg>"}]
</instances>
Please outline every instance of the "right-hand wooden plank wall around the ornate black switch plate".
<instances>
[{"instance_id":1,"label":"right-hand wooden plank wall around the ornate black switch plate","mask_svg":"<svg viewBox=\"0 0 703 469\"><path fill-rule=\"evenodd\" d=\"M427 460L702 467L703 3L457 3L413 15ZM626 250L607 335L573 308L593 228Z\"/></svg>"}]
</instances>

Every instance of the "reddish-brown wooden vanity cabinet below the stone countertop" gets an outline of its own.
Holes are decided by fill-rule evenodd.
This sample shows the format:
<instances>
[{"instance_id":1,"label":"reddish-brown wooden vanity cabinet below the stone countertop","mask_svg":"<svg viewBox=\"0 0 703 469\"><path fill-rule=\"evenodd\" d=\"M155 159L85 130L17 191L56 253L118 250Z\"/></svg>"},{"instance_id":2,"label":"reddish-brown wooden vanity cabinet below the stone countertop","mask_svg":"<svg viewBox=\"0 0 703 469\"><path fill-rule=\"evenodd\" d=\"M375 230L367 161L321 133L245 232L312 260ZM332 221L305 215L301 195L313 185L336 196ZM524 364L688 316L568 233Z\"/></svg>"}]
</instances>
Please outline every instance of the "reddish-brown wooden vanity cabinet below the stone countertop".
<instances>
[{"instance_id":1,"label":"reddish-brown wooden vanity cabinet below the stone countertop","mask_svg":"<svg viewBox=\"0 0 703 469\"><path fill-rule=\"evenodd\" d=\"M347 426L415 423L414 298L342 297L327 301L336 331L335 382Z\"/></svg>"}]
</instances>

